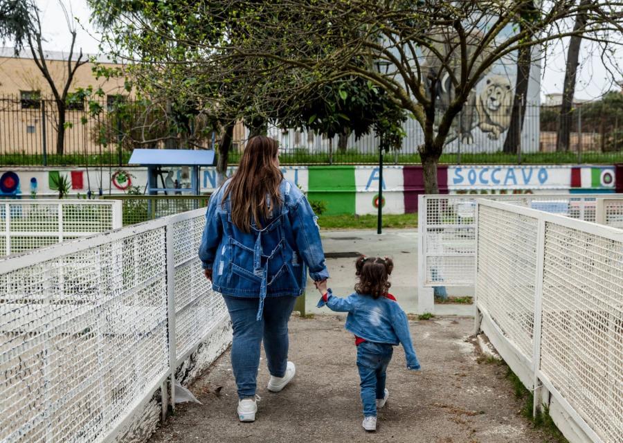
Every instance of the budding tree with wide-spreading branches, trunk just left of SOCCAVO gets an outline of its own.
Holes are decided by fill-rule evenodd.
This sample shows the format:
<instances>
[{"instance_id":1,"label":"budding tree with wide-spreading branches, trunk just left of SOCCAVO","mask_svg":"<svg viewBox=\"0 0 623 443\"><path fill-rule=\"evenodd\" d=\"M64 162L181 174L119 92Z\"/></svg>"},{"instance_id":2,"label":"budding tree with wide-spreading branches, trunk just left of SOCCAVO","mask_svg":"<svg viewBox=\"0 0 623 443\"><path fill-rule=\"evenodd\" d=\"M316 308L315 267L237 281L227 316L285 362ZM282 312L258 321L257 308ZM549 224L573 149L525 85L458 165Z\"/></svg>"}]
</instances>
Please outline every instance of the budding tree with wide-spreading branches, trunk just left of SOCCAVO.
<instances>
[{"instance_id":1,"label":"budding tree with wide-spreading branches, trunk just left of SOCCAVO","mask_svg":"<svg viewBox=\"0 0 623 443\"><path fill-rule=\"evenodd\" d=\"M520 50L577 34L567 23L579 12L589 17L583 30L589 38L620 43L620 1L539 2L534 13L525 14L529 3L223 0L210 5L235 10L246 28L244 41L222 44L226 57L268 59L282 69L305 69L318 81L356 75L384 89L422 127L425 188L435 193L437 163L453 120L473 100L474 87L491 66L516 58ZM218 48L215 53L211 60L219 60ZM391 69L379 72L374 60ZM446 82L451 88L442 88ZM451 93L442 97L440 89ZM466 129L459 129L461 136Z\"/></svg>"}]
</instances>

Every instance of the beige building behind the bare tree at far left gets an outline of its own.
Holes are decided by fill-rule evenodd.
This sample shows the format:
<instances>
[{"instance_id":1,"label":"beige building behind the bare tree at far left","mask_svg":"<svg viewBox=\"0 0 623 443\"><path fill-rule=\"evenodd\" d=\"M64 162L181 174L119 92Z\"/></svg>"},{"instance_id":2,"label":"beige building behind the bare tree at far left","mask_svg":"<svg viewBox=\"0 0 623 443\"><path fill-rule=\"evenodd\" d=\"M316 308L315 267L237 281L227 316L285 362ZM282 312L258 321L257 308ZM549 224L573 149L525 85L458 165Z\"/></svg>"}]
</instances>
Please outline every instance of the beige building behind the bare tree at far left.
<instances>
[{"instance_id":1,"label":"beige building behind the bare tree at far left","mask_svg":"<svg viewBox=\"0 0 623 443\"><path fill-rule=\"evenodd\" d=\"M44 53L46 62L58 91L62 91L68 78L67 54L54 51ZM78 55L73 55L72 59ZM83 55L83 60L93 57ZM99 57L97 62L120 66ZM101 88L104 96L98 98L103 107L111 107L115 100L126 100L129 94L123 88L123 78L96 79L93 63L87 62L73 76L69 91L79 88ZM118 96L124 96L118 98ZM88 118L87 103L71 102L66 111L64 154L92 154L100 152L95 143L96 119ZM16 56L12 48L0 48L0 154L48 155L57 149L57 109L52 90L44 75L24 49ZM84 118L87 117L86 123Z\"/></svg>"}]
</instances>

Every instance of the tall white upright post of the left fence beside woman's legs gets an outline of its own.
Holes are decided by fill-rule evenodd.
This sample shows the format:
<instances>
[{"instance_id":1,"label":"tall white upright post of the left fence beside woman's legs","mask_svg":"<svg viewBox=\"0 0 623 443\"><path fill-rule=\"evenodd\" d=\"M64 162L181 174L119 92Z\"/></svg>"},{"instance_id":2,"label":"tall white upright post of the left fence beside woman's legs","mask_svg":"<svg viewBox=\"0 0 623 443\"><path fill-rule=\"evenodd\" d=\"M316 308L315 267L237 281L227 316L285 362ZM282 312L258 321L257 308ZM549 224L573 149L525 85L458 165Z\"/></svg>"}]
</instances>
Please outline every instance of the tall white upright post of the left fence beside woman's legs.
<instances>
[{"instance_id":1,"label":"tall white upright post of the left fence beside woman's legs","mask_svg":"<svg viewBox=\"0 0 623 443\"><path fill-rule=\"evenodd\" d=\"M166 254L167 254L167 336L169 345L169 386L171 408L175 410L175 369L177 366L177 336L175 324L175 262L173 254L173 223L170 221L165 225L166 233ZM167 392L162 392L163 408Z\"/></svg>"}]
</instances>

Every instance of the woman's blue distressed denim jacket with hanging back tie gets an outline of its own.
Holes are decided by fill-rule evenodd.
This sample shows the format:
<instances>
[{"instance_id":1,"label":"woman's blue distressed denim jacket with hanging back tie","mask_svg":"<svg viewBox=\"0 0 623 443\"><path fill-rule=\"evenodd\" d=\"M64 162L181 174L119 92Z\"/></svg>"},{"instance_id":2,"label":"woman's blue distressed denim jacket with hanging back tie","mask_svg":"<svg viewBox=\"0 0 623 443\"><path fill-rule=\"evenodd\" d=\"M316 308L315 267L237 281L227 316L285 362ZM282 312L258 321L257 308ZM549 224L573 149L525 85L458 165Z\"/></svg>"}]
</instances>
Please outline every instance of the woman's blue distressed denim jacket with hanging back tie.
<instances>
[{"instance_id":1,"label":"woman's blue distressed denim jacket with hanging back tie","mask_svg":"<svg viewBox=\"0 0 623 443\"><path fill-rule=\"evenodd\" d=\"M226 181L210 197L206 228L199 246L204 269L213 271L213 288L226 296L259 297L258 320L267 296L300 296L305 265L313 280L329 277L316 215L303 192L283 180L282 202L258 228L244 233L231 220L229 198L222 204ZM275 213L276 212L276 213Z\"/></svg>"}]
</instances>

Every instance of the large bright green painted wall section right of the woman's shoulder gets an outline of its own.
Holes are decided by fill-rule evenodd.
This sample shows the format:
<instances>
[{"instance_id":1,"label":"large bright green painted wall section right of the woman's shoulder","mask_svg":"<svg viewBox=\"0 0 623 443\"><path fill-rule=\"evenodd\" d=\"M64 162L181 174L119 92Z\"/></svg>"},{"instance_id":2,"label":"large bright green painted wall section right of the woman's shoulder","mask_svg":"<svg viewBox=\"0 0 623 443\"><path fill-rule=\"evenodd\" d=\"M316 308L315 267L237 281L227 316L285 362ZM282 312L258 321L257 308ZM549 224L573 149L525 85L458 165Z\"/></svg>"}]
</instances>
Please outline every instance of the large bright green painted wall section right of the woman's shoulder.
<instances>
[{"instance_id":1,"label":"large bright green painted wall section right of the woman's shoulder","mask_svg":"<svg viewBox=\"0 0 623 443\"><path fill-rule=\"evenodd\" d=\"M355 183L353 166L310 166L309 200L327 202L325 214L355 213Z\"/></svg>"}]
</instances>

